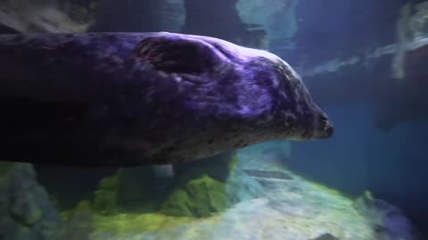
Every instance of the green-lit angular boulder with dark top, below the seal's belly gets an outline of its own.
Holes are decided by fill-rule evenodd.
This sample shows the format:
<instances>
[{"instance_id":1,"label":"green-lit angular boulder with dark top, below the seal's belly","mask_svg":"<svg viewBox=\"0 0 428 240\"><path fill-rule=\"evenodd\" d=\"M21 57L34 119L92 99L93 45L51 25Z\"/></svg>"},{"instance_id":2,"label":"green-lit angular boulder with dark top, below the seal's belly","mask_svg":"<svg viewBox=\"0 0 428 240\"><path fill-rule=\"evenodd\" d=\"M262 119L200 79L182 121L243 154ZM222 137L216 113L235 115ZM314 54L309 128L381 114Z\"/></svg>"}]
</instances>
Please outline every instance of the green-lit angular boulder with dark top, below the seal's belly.
<instances>
[{"instance_id":1,"label":"green-lit angular boulder with dark top, below the seal's belly","mask_svg":"<svg viewBox=\"0 0 428 240\"><path fill-rule=\"evenodd\" d=\"M235 152L178 166L177 185L161 204L160 212L171 216L209 217L232 203L227 179L235 170Z\"/></svg>"}]
</instances>

